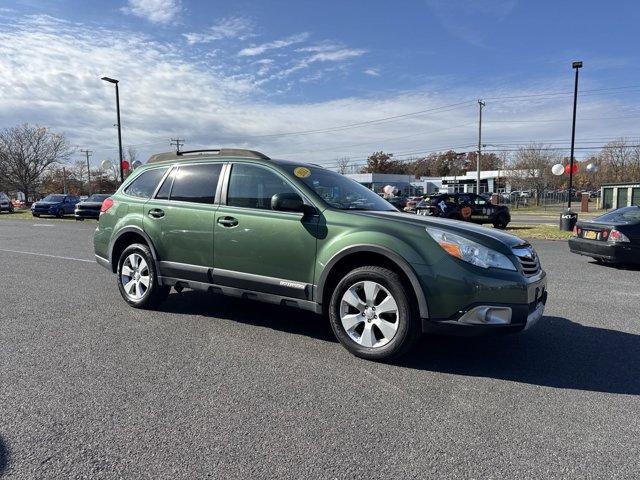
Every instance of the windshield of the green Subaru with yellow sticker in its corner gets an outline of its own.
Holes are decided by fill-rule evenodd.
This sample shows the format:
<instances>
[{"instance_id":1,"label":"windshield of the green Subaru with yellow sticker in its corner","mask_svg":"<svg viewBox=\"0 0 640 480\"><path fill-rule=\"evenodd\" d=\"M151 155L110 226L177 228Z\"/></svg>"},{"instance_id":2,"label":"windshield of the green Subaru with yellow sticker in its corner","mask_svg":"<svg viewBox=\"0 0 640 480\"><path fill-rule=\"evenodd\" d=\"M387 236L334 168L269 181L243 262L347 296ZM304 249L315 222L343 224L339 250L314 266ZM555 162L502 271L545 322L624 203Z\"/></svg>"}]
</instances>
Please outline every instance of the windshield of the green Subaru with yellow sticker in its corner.
<instances>
[{"instance_id":1,"label":"windshield of the green Subaru with yellow sticker in its corner","mask_svg":"<svg viewBox=\"0 0 640 480\"><path fill-rule=\"evenodd\" d=\"M337 172L324 168L295 166L290 167L290 171L334 208L397 211L393 205L376 193Z\"/></svg>"}]
</instances>

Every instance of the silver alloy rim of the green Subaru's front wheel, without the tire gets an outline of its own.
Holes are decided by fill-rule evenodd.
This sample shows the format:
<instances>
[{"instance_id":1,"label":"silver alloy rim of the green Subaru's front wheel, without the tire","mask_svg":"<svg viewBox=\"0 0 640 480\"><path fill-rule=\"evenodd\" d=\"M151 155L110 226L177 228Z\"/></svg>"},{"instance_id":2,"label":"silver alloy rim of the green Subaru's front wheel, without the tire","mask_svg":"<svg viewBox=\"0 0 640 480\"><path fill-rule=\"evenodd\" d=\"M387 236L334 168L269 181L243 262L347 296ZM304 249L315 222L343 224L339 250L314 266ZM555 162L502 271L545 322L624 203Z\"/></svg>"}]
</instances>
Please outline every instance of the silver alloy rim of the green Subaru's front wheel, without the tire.
<instances>
[{"instance_id":1,"label":"silver alloy rim of the green Subaru's front wheel, without the tire","mask_svg":"<svg viewBox=\"0 0 640 480\"><path fill-rule=\"evenodd\" d=\"M357 282L342 295L340 321L354 342L363 347L382 347L398 332L398 304L379 283Z\"/></svg>"}]
</instances>

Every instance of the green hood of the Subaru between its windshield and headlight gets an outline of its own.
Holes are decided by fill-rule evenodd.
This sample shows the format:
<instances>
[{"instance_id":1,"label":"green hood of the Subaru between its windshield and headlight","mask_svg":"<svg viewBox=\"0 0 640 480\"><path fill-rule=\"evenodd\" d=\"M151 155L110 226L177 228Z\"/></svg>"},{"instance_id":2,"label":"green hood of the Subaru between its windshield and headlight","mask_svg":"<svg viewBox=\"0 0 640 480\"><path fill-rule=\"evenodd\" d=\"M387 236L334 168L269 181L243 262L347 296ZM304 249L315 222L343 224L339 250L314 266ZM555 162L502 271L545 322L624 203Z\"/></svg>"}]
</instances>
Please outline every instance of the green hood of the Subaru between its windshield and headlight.
<instances>
[{"instance_id":1,"label":"green hood of the Subaru between its windshield and headlight","mask_svg":"<svg viewBox=\"0 0 640 480\"><path fill-rule=\"evenodd\" d=\"M511 252L511 248L517 247L520 245L528 245L528 242L525 242L519 237L515 235L511 235L510 233L503 232L502 230L498 230L495 228L483 227L481 225L476 225L471 222L463 222L461 220L449 220L446 218L440 217L425 217L422 215L411 215L408 213L402 212L366 212L366 211L358 211L353 212L358 215L368 216L368 217L376 217L382 219L388 219L391 221L399 221L403 223L410 223L413 225L419 225L424 228L435 227L442 228L444 230L449 230L453 233L459 233L468 237L470 240L478 241L490 248L507 248L507 253ZM496 245L498 244L498 245Z\"/></svg>"}]
</instances>

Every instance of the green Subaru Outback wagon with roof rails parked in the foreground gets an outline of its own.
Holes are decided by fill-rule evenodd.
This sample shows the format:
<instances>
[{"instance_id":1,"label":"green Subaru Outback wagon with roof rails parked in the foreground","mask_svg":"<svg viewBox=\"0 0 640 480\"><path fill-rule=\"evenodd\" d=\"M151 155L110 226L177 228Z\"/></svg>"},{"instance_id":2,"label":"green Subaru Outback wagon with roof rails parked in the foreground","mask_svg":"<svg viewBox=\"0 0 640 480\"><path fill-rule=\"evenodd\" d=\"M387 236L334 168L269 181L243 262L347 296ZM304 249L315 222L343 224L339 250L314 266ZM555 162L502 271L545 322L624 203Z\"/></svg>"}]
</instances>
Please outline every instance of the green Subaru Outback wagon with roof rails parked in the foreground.
<instances>
[{"instance_id":1,"label":"green Subaru Outback wagon with roof rails parked in the foreground","mask_svg":"<svg viewBox=\"0 0 640 480\"><path fill-rule=\"evenodd\" d=\"M523 330L547 298L515 236L401 213L339 173L250 150L152 156L104 201L94 246L133 307L171 287L298 307L369 359L422 332Z\"/></svg>"}]
</instances>

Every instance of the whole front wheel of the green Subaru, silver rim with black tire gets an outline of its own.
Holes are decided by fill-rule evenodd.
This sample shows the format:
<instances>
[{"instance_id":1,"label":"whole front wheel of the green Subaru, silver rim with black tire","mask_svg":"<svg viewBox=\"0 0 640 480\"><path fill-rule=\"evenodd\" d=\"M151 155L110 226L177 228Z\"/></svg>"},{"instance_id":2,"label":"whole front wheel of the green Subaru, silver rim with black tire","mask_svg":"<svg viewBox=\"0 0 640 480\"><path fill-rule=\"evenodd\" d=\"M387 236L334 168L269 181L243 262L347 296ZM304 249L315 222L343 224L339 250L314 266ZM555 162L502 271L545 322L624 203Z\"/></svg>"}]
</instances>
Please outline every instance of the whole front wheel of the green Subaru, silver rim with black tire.
<instances>
[{"instance_id":1,"label":"whole front wheel of the green Subaru, silver rim with black tire","mask_svg":"<svg viewBox=\"0 0 640 480\"><path fill-rule=\"evenodd\" d=\"M419 321L400 276L383 267L359 267L336 286L329 305L336 337L351 353L388 360L410 349Z\"/></svg>"}]
</instances>

